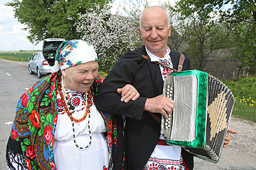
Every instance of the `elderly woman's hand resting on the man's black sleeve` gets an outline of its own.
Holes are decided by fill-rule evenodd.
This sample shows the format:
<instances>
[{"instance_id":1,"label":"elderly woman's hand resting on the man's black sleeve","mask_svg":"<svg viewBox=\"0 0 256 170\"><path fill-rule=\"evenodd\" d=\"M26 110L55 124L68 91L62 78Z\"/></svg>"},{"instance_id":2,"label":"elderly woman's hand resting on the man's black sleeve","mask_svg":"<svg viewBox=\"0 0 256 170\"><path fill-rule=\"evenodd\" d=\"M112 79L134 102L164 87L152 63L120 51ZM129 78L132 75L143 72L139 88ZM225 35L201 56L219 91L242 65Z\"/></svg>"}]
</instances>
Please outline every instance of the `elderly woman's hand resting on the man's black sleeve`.
<instances>
[{"instance_id":1,"label":"elderly woman's hand resting on the man's black sleeve","mask_svg":"<svg viewBox=\"0 0 256 170\"><path fill-rule=\"evenodd\" d=\"M122 96L121 102L127 103L131 99L136 100L137 98L139 98L138 91L130 84L126 84L123 88L117 89L117 92Z\"/></svg>"}]
</instances>

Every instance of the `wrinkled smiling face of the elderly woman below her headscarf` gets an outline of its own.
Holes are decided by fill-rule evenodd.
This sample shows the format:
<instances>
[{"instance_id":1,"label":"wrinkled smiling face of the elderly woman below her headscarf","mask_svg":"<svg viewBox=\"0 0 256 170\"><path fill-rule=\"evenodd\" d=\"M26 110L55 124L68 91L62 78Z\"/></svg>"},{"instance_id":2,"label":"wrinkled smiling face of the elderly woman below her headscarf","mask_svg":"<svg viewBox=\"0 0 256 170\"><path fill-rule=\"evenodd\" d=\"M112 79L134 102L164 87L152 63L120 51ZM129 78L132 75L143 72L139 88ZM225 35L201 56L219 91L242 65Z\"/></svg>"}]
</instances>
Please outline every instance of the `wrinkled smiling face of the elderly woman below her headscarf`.
<instances>
[{"instance_id":1,"label":"wrinkled smiling face of the elderly woman below her headscarf","mask_svg":"<svg viewBox=\"0 0 256 170\"><path fill-rule=\"evenodd\" d=\"M62 70L66 89L79 92L87 92L98 75L97 61L89 61L83 64Z\"/></svg>"}]
</instances>

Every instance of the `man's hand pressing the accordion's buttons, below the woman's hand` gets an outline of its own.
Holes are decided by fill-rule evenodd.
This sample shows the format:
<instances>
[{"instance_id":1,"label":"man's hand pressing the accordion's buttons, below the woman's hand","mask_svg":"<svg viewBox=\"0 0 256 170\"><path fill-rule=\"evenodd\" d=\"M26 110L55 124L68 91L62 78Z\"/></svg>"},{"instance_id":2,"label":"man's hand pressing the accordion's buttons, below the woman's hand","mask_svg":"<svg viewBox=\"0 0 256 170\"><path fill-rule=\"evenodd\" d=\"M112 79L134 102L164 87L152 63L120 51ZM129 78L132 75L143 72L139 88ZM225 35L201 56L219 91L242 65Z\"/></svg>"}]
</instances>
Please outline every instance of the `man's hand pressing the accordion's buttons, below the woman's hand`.
<instances>
[{"instance_id":1,"label":"man's hand pressing the accordion's buttons, below the woman's hand","mask_svg":"<svg viewBox=\"0 0 256 170\"><path fill-rule=\"evenodd\" d=\"M174 101L166 96L159 95L154 98L147 98L144 110L151 113L160 113L164 118L168 118L168 115L174 108Z\"/></svg>"}]
</instances>

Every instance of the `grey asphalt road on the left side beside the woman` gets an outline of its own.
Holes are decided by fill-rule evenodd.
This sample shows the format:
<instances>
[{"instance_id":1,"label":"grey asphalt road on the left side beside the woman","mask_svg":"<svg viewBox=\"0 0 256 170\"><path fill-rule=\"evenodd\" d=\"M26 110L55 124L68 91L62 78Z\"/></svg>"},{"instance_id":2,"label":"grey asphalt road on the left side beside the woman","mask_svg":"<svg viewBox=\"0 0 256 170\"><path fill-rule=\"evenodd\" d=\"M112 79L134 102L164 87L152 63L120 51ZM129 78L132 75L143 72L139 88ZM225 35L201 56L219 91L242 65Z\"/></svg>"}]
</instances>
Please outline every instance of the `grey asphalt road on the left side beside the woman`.
<instances>
[{"instance_id":1,"label":"grey asphalt road on the left side beside the woman","mask_svg":"<svg viewBox=\"0 0 256 170\"><path fill-rule=\"evenodd\" d=\"M0 169L7 169L5 148L13 122L18 99L31 87L38 77L30 75L27 62L13 62L0 59Z\"/></svg>"}]
</instances>

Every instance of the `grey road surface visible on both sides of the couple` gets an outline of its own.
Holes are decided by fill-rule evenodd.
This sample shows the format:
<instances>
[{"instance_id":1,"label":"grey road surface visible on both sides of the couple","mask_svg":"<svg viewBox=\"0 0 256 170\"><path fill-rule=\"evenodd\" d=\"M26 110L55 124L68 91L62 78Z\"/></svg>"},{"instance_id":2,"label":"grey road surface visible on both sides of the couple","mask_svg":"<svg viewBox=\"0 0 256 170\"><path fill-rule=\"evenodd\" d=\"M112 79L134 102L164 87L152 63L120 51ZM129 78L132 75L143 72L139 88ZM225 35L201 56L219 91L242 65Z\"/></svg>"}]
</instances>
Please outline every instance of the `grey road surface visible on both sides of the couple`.
<instances>
[{"instance_id":1,"label":"grey road surface visible on both sides of the couple","mask_svg":"<svg viewBox=\"0 0 256 170\"><path fill-rule=\"evenodd\" d=\"M38 78L28 73L27 62L0 59L0 169L7 169L5 147L11 130L17 100ZM228 148L223 149L220 161L215 164L195 158L195 170L256 170L256 123L232 118L230 127L238 131L232 135Z\"/></svg>"}]
</instances>

